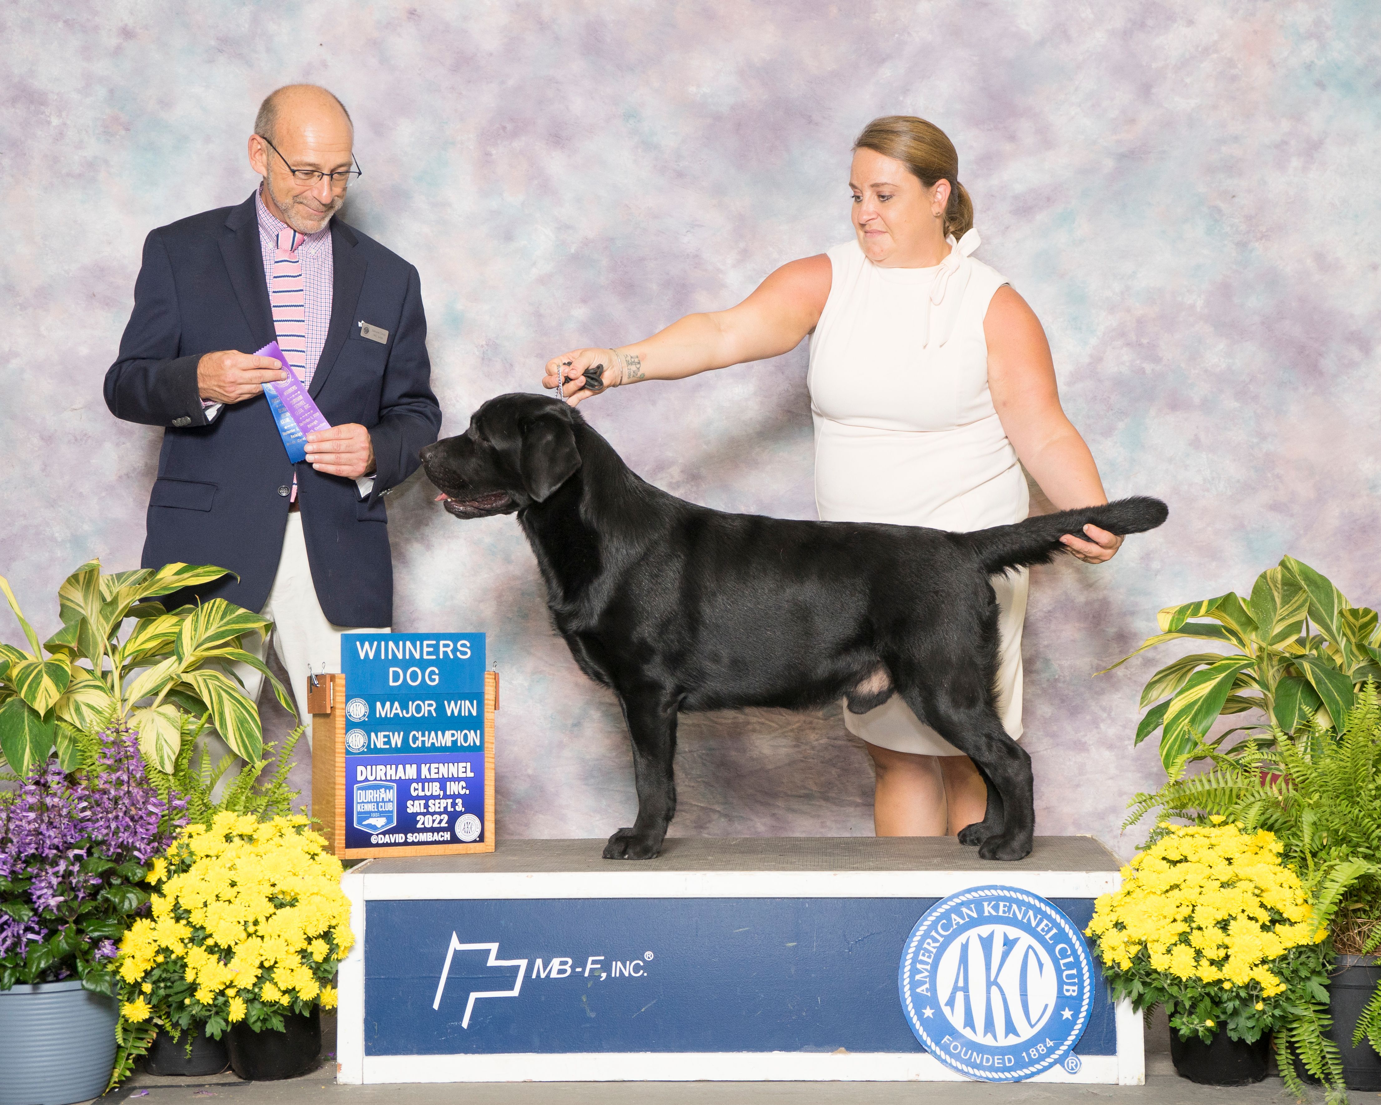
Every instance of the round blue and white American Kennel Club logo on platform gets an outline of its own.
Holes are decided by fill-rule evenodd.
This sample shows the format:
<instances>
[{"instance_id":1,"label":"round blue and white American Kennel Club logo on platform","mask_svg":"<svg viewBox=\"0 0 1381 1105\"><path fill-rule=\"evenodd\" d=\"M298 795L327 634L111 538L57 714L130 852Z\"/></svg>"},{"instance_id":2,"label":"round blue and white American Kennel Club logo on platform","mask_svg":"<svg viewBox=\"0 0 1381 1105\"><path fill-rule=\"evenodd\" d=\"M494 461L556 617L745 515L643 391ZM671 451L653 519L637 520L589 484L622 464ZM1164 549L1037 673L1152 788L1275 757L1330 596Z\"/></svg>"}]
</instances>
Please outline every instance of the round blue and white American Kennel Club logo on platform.
<instances>
[{"instance_id":1,"label":"round blue and white American Kennel Club logo on platform","mask_svg":"<svg viewBox=\"0 0 1381 1105\"><path fill-rule=\"evenodd\" d=\"M972 887L917 921L898 988L931 1055L971 1079L1019 1082L1073 1058L1092 1008L1092 960L1079 928L1039 894Z\"/></svg>"}]
</instances>

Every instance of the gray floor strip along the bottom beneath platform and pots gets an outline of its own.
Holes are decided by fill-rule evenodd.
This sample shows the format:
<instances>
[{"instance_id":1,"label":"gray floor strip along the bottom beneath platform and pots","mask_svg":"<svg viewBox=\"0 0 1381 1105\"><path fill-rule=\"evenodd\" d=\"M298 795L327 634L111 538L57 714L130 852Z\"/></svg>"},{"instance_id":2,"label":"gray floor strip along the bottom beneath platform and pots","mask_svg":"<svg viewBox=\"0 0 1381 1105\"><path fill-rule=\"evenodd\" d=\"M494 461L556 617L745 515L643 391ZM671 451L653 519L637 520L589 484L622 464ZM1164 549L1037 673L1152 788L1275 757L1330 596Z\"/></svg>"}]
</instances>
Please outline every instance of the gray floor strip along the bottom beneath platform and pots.
<instances>
[{"instance_id":1,"label":"gray floor strip along the bottom beneath platform and pots","mask_svg":"<svg viewBox=\"0 0 1381 1105\"><path fill-rule=\"evenodd\" d=\"M1128 1105L1288 1105L1294 1098L1277 1077L1257 1086L1222 1088L1185 1082L1170 1062L1164 1014L1148 1029L1145 1086L1059 1086L1018 1083L800 1083L800 1082L624 1082L470 1083L439 1086L337 1086L331 1075L336 1026L322 1022L330 1053L312 1075L287 1082L240 1082L233 1075L168 1079L137 1073L105 1098L130 1105L1012 1105L1012 1102L1128 1102ZM1381 1094L1353 1094L1353 1101ZM1312 1090L1311 1105L1323 1101Z\"/></svg>"}]
</instances>

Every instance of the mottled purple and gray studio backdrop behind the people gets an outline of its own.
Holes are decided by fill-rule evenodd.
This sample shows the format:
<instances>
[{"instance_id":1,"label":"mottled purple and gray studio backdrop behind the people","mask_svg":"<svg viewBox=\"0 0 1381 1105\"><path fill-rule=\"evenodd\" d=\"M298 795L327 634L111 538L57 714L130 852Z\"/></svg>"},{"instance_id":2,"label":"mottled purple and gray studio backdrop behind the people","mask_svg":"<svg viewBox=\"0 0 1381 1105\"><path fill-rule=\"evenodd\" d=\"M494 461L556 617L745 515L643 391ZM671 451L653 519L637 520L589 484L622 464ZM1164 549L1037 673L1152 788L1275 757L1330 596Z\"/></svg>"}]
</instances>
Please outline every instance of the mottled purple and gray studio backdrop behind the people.
<instances>
[{"instance_id":1,"label":"mottled purple and gray studio backdrop behind the people","mask_svg":"<svg viewBox=\"0 0 1381 1105\"><path fill-rule=\"evenodd\" d=\"M1043 833L1119 836L1157 608L1291 552L1381 599L1374 3L123 3L0 10L0 572L43 630L88 557L138 562L160 434L101 399L144 235L254 186L260 98L351 108L347 217L421 269L457 432L541 363L726 307L847 240L849 144L923 115L1050 334L1113 494L1170 522L1040 569L1026 747ZM652 482L813 517L805 348L583 407ZM499 832L603 836L634 793L613 698L547 622L512 518L391 506L395 627L483 630L503 673ZM8 615L4 615L7 619ZM11 624L0 630L17 637ZM1168 659L1168 657L1163 657ZM686 717L678 834L871 832L838 711Z\"/></svg>"}]
</instances>

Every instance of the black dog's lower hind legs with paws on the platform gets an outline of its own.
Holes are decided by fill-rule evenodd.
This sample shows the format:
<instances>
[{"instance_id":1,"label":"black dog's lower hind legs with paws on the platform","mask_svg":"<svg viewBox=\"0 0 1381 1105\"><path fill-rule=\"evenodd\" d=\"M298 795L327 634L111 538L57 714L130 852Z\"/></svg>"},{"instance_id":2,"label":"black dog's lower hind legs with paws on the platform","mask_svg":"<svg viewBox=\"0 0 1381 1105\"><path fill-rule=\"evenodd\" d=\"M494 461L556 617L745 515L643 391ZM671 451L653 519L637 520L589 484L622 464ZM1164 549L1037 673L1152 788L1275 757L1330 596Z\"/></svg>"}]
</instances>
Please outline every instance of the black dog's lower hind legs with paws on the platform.
<instances>
[{"instance_id":1,"label":"black dog's lower hind legs with paws on the platform","mask_svg":"<svg viewBox=\"0 0 1381 1105\"><path fill-rule=\"evenodd\" d=\"M943 691L923 699L903 692L917 717L924 717L950 744L968 756L987 785L983 820L964 830L964 844L978 844L983 859L1023 859L1036 832L1032 758L1012 740L990 703L964 704Z\"/></svg>"}]
</instances>

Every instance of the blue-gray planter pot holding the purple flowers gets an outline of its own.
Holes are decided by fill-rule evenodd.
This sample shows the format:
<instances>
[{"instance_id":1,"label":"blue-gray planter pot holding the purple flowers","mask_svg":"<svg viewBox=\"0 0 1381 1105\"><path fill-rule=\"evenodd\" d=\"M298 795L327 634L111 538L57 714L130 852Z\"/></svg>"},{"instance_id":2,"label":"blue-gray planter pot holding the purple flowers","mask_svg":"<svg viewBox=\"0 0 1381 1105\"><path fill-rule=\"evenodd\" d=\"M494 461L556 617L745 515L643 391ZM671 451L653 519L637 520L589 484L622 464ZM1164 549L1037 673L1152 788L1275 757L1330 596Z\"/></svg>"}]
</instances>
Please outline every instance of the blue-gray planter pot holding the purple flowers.
<instances>
[{"instance_id":1,"label":"blue-gray planter pot holding the purple flowers","mask_svg":"<svg viewBox=\"0 0 1381 1105\"><path fill-rule=\"evenodd\" d=\"M72 1105L99 1097L115 1068L113 997L81 982L0 990L0 1105Z\"/></svg>"}]
</instances>

